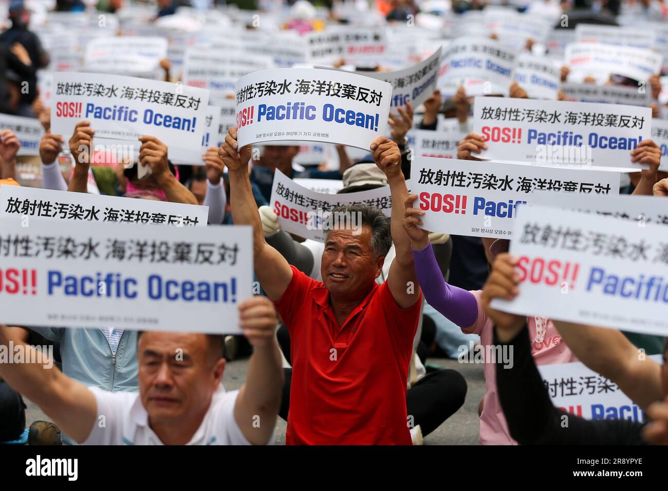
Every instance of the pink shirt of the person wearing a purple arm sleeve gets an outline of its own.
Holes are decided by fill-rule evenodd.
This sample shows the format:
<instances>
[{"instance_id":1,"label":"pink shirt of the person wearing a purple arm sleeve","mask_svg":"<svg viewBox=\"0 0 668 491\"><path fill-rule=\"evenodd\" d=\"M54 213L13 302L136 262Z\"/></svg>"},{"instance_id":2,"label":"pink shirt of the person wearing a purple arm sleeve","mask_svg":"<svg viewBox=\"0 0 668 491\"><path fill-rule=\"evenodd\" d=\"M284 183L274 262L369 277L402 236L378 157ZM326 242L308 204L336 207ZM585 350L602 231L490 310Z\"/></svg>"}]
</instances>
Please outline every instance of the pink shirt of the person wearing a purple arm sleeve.
<instances>
[{"instance_id":1,"label":"pink shirt of the person wearing a purple arm sleeve","mask_svg":"<svg viewBox=\"0 0 668 491\"><path fill-rule=\"evenodd\" d=\"M480 301L482 291L471 293L478 301L478 321L472 331L462 328L462 332L479 335L482 346L491 345L494 341L494 323L482 308ZM578 361L561 339L552 321L545 317L528 317L528 327L531 353L534 355L536 365ZM485 375L485 402L480 415L480 445L517 445L517 442L510 438L508 424L496 392L496 364L493 359L485 360L483 373Z\"/></svg>"}]
</instances>

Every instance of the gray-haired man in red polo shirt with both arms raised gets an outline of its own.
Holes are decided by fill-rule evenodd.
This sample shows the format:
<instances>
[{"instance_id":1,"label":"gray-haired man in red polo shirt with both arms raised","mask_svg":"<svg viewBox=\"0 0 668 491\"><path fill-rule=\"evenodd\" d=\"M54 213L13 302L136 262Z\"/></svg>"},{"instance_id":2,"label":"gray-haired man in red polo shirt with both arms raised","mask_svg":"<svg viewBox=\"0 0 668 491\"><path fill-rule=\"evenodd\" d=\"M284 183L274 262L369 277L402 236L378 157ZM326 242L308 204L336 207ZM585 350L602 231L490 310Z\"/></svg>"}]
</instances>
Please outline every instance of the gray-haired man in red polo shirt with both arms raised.
<instances>
[{"instance_id":1,"label":"gray-haired man in red polo shirt with both arms raised","mask_svg":"<svg viewBox=\"0 0 668 491\"><path fill-rule=\"evenodd\" d=\"M287 444L411 444L406 382L421 292L401 226L408 191L397 144L376 138L371 152L390 186L391 227L377 208L335 209L339 217L359 213L361 227L347 221L326 230L320 282L265 242L248 179L251 146L238 148L230 128L218 150L229 170L232 220L253 226L255 274L290 331ZM378 285L392 240L396 257Z\"/></svg>"}]
</instances>

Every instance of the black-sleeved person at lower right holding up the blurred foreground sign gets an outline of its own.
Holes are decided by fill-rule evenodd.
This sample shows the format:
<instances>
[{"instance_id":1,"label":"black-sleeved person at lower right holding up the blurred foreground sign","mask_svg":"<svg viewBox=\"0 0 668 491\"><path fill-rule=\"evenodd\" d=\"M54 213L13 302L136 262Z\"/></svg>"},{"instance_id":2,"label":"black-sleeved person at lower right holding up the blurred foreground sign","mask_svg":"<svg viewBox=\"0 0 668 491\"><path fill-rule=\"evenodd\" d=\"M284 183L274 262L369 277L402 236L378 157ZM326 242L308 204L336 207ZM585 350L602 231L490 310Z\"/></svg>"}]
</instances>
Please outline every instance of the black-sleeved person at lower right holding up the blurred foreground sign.
<instances>
[{"instance_id":1,"label":"black-sleeved person at lower right holding up the blurred foreground sign","mask_svg":"<svg viewBox=\"0 0 668 491\"><path fill-rule=\"evenodd\" d=\"M513 364L503 365L502 360L497 360L496 369L498 396L512 438L522 445L668 444L668 344L663 352L662 368L651 359L633 363L631 359L637 359L637 349L633 350L634 356L629 351L619 360L625 361L626 365L633 364L637 369L634 378L638 387L635 392L639 395L643 391L651 394L653 402L647 405L646 414L653 422L643 424L631 420L585 420L554 407L534 357L531 356L526 318L490 307L493 299L512 300L518 294L518 282L514 279L515 264L516 260L510 255L500 254L494 261L492 274L482 293L486 315L495 325L494 344L512 348ZM605 331L617 333L611 329L585 331L583 335L587 337L587 345L598 345L600 353L609 348L618 351L619 346L615 346L615 341L611 339L615 336L607 337ZM603 334L602 339L592 336L599 333ZM623 336L617 336L616 341L619 342L621 338ZM562 424L564 418L568 420L567 426Z\"/></svg>"}]
</instances>

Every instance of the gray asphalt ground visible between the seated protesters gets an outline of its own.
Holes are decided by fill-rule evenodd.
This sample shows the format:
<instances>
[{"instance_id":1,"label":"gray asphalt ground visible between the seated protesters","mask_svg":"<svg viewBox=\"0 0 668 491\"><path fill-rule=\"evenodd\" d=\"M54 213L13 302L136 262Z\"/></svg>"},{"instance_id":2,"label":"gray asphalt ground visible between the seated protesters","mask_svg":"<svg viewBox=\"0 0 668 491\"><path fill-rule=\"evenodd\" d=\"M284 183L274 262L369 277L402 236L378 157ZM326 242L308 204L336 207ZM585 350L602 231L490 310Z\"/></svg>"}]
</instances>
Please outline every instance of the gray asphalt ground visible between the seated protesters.
<instances>
[{"instance_id":1,"label":"gray asphalt ground visible between the seated protesters","mask_svg":"<svg viewBox=\"0 0 668 491\"><path fill-rule=\"evenodd\" d=\"M478 404L485 393L485 380L482 375L482 364L460 364L457 360L450 359L429 359L430 365L440 365L444 368L450 368L459 371L468 384L466 401L464 406L446 420L434 432L424 438L425 445L477 445L478 430ZM239 359L230 361L226 365L223 377L223 385L228 390L234 390L241 387L246 379L246 370L248 369L248 359ZM47 420L49 418L31 401L25 401L27 412L25 420L27 425L36 420ZM276 443L285 444L285 421L278 418L276 424Z\"/></svg>"}]
</instances>

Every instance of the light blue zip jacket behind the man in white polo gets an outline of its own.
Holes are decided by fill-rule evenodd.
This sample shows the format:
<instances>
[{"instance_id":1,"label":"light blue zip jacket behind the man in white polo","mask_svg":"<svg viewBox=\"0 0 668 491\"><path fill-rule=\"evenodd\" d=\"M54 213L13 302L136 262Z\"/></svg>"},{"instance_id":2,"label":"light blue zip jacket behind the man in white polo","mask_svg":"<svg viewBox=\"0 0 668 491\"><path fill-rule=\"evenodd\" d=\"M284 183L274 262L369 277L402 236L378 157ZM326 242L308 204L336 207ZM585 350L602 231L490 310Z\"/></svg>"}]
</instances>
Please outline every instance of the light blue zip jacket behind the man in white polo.
<instances>
[{"instance_id":1,"label":"light blue zip jacket behind the man in white polo","mask_svg":"<svg viewBox=\"0 0 668 491\"><path fill-rule=\"evenodd\" d=\"M67 377L110 392L138 390L137 331L123 331L114 355L100 329L29 329L52 341L60 341L63 373Z\"/></svg>"}]
</instances>

